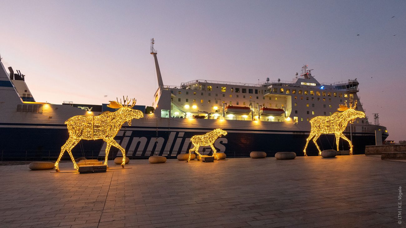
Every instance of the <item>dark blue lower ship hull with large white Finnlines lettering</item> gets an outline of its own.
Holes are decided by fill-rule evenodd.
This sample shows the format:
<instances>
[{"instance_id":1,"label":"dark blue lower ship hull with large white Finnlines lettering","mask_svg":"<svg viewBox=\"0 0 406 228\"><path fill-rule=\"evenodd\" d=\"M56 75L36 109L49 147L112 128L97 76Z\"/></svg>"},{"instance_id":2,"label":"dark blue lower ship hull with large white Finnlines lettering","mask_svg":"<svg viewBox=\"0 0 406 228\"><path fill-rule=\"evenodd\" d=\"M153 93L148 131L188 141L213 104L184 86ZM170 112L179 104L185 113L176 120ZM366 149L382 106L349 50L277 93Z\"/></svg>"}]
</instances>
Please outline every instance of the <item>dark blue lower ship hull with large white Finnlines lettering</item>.
<instances>
[{"instance_id":1,"label":"dark blue lower ship hull with large white Finnlines lettering","mask_svg":"<svg viewBox=\"0 0 406 228\"><path fill-rule=\"evenodd\" d=\"M2 124L3 126L5 124ZM0 155L2 161L55 161L60 153L60 147L69 137L66 125L22 125L15 127L0 127ZM123 127L115 140L125 148L130 159L145 159L151 155L164 155L169 159L176 158L180 153L186 153L193 146L190 138L204 134L212 129L202 128L149 128ZM227 131L227 129L225 129ZM309 132L289 131L253 131L230 129L227 136L216 140L214 146L218 152L226 153L227 157L249 157L251 151L264 151L268 157L277 152L291 151L298 156L303 155L303 148ZM350 138L349 134L346 134ZM383 140L387 138L384 135ZM354 154L363 154L365 146L375 144L372 133L352 133ZM322 135L317 140L320 148L337 149L334 135ZM105 156L105 144L102 140L82 140L72 153L75 158L101 158ZM349 150L346 141L340 139L339 150ZM211 154L212 149L201 147L203 154ZM317 155L317 148L312 141L307 148L308 155ZM117 148L111 148L109 159L121 156ZM64 160L69 155L63 155Z\"/></svg>"}]
</instances>

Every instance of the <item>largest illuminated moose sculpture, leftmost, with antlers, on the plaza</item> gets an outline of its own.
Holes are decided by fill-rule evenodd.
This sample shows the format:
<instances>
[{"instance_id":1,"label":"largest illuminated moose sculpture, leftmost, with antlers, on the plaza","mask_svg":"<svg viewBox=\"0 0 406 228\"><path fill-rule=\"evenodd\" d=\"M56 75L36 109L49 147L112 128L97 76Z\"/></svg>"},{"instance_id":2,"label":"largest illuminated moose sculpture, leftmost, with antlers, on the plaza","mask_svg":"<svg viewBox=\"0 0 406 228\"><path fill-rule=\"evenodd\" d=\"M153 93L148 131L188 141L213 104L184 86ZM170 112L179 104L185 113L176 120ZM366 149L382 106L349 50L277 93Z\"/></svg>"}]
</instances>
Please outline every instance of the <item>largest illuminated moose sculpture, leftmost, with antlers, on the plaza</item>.
<instances>
[{"instance_id":1,"label":"largest illuminated moose sculpture, leftmost, with antlers, on the plaza","mask_svg":"<svg viewBox=\"0 0 406 228\"><path fill-rule=\"evenodd\" d=\"M109 108L119 109L115 112L106 111L99 116L73 116L65 121L65 124L67 125L69 131L69 138L60 148L58 160L55 162L56 172L59 172L59 161L65 151L69 153L69 156L73 161L73 168L75 168L76 170L79 169L78 165L75 162L75 159L72 156L71 150L82 139L102 139L104 142L107 143L106 158L104 160L105 165L107 165L107 157L110 151L110 147L114 146L119 148L121 153L123 153L121 166L124 168L125 150L116 142L116 140L114 140L114 136L117 135L124 122L127 122L128 125L131 126L131 120L133 118L139 119L144 117L143 112L132 109L132 107L134 107L136 103L135 99L132 99L131 105L130 101L127 101L127 104L126 101L127 99L124 99L124 105L122 105L121 102L119 103L118 99L117 102L110 101L110 104L107 105Z\"/></svg>"}]
</instances>

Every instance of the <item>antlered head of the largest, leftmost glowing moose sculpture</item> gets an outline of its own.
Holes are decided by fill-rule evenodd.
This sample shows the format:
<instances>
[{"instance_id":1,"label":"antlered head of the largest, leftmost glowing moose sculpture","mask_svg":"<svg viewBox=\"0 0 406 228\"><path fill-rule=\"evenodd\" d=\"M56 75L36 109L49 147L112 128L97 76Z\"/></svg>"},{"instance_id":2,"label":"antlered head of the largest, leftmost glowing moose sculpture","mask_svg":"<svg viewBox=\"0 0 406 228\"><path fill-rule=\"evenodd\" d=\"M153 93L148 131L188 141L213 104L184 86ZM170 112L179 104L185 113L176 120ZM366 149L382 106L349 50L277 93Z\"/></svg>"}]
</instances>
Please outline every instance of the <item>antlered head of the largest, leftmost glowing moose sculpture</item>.
<instances>
[{"instance_id":1,"label":"antlered head of the largest, leftmost glowing moose sculpture","mask_svg":"<svg viewBox=\"0 0 406 228\"><path fill-rule=\"evenodd\" d=\"M128 96L127 98L124 98L124 104L121 104L121 99L119 102L119 99L117 98L117 101L110 101L110 104L107 105L107 107L109 108L118 108L119 110L117 110L117 114L119 114L118 116L120 116L120 119L123 120L122 123L127 122L129 126L131 126L131 120L136 118L142 118L144 117L143 112L141 112L140 110L134 110L132 109L132 107L134 107L134 105L136 104L136 99L131 99L128 100ZM130 102L132 101L132 104L130 105Z\"/></svg>"}]
</instances>

